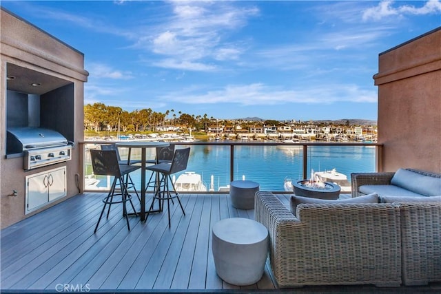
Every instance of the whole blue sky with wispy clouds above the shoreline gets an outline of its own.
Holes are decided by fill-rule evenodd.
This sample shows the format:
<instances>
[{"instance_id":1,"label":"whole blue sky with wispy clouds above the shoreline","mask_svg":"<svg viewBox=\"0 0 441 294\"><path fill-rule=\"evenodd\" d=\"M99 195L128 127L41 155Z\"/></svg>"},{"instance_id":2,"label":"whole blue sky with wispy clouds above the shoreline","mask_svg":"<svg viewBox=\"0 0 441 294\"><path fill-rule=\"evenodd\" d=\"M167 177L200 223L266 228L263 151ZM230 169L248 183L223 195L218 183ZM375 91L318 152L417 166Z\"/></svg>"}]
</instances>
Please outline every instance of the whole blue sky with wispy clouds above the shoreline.
<instances>
[{"instance_id":1,"label":"whole blue sky with wispy clouds above the shoreline","mask_svg":"<svg viewBox=\"0 0 441 294\"><path fill-rule=\"evenodd\" d=\"M85 54L87 103L214 118L377 119L378 54L433 1L1 1Z\"/></svg>"}]
</instances>

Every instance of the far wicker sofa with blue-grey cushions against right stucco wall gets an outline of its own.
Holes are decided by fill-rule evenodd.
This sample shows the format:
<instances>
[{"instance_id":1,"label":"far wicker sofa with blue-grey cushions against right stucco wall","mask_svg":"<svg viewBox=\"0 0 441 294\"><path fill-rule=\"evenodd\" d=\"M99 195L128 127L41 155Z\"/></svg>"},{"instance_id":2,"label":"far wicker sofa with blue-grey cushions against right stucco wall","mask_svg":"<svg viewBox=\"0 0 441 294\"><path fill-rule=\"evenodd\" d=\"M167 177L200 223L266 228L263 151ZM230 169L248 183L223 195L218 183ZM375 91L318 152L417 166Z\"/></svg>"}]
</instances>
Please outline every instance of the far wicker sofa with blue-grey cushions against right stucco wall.
<instances>
[{"instance_id":1,"label":"far wicker sofa with blue-grey cushions against right stucco wall","mask_svg":"<svg viewBox=\"0 0 441 294\"><path fill-rule=\"evenodd\" d=\"M379 196L440 196L441 174L420 169L351 174L352 197L369 193Z\"/></svg>"}]
</instances>

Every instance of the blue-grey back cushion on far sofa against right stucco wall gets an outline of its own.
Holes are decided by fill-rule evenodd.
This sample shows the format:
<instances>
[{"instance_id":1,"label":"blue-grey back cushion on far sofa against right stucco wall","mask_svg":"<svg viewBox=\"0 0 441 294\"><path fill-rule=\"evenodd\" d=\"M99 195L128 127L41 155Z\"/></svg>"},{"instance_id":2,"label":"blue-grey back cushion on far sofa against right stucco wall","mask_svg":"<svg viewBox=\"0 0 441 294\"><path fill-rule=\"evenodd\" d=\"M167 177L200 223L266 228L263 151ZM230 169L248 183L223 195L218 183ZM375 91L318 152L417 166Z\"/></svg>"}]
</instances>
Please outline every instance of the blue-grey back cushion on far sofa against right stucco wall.
<instances>
[{"instance_id":1,"label":"blue-grey back cushion on far sofa against right stucco wall","mask_svg":"<svg viewBox=\"0 0 441 294\"><path fill-rule=\"evenodd\" d=\"M441 178L424 176L407 169L398 169L391 179L391 184L424 196L441 194Z\"/></svg>"}]
</instances>

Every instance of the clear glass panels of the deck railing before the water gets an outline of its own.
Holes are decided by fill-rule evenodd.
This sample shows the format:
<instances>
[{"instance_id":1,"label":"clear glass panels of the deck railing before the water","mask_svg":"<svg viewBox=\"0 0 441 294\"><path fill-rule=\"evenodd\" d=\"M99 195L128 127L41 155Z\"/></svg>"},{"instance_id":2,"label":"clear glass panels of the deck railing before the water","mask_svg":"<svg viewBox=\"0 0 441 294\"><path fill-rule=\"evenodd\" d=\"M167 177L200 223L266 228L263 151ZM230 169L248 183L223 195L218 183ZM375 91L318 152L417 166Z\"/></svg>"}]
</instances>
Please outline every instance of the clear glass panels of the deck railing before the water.
<instances>
[{"instance_id":1,"label":"clear glass panels of the deck railing before the water","mask_svg":"<svg viewBox=\"0 0 441 294\"><path fill-rule=\"evenodd\" d=\"M97 143L84 144L84 175L85 189L88 191L108 189L112 178L94 176L90 162L89 149L99 147ZM233 145L233 146L232 146ZM191 147L187 169L174 175L177 180L181 174L194 173L201 176L204 187L196 191L227 191L231 180L254 180L260 184L260 189L265 191L288 191L285 189L287 180L302 180L304 178L303 162L306 178L310 178L311 170L315 172L340 173L347 177L353 172L376 171L376 145L307 145L304 160L303 145L272 145L252 144L234 145L204 143L176 145L176 148ZM231 150L234 156L231 158ZM121 158L127 159L128 149L119 149ZM141 150L132 149L132 159L141 159ZM155 157L155 149L147 149L147 158ZM233 166L230 162L233 160ZM147 180L150 174L147 171ZM330 175L325 175L330 176ZM335 178L335 177L334 177ZM136 189L141 189L141 171L134 171L132 179ZM346 193L349 193L347 191Z\"/></svg>"}]
</instances>

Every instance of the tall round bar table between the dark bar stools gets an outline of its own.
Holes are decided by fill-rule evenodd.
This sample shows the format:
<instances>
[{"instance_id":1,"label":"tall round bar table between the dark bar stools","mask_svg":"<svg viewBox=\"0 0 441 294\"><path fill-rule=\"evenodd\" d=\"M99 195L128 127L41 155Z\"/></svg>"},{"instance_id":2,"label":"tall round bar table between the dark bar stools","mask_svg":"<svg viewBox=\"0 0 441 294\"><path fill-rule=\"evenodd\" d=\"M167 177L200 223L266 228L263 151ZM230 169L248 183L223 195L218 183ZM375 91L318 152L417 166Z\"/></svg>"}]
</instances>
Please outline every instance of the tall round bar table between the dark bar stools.
<instances>
[{"instance_id":1,"label":"tall round bar table between the dark bar stools","mask_svg":"<svg viewBox=\"0 0 441 294\"><path fill-rule=\"evenodd\" d=\"M141 148L141 211L139 212L139 216L141 217L141 221L145 220L145 149L147 148L156 148L156 147L167 147L170 143L167 142L150 142L150 141L130 141L130 142L119 142L116 143L117 147L125 147L129 148ZM130 154L130 151L129 151ZM128 158L130 160L130 157Z\"/></svg>"}]
</instances>

